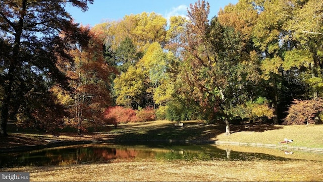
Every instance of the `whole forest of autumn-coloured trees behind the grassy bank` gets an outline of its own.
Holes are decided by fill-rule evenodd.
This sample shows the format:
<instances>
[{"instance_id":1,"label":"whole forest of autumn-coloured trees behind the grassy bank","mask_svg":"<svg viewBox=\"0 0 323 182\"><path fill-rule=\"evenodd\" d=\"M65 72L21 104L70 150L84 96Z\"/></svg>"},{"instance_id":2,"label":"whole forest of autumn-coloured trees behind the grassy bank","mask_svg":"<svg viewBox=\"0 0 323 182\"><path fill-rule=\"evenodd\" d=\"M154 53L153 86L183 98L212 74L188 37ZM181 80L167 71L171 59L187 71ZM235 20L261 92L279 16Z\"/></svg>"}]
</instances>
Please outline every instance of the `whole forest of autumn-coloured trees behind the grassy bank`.
<instances>
[{"instance_id":1,"label":"whole forest of autumn-coloured trees behind the grassy bank","mask_svg":"<svg viewBox=\"0 0 323 182\"><path fill-rule=\"evenodd\" d=\"M0 1L0 135L7 124L67 126L150 120L230 125L320 124L323 2L240 0L217 15L125 15L94 27L66 4ZM208 17L212 16L209 20Z\"/></svg>"}]
</instances>

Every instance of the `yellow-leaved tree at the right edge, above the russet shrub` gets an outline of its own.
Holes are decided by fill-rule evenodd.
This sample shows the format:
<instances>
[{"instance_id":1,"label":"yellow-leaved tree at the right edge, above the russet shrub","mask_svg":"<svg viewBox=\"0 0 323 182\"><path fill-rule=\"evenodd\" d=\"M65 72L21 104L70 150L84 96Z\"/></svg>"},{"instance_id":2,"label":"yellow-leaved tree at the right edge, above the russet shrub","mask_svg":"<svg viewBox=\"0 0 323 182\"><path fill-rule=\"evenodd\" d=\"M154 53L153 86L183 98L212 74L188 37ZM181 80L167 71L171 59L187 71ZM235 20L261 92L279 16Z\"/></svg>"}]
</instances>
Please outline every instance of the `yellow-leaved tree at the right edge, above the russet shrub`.
<instances>
[{"instance_id":1,"label":"yellow-leaved tree at the right edge, above the russet shrub","mask_svg":"<svg viewBox=\"0 0 323 182\"><path fill-rule=\"evenodd\" d=\"M303 80L309 84L312 97L323 93L323 3L317 0L291 1L284 15L289 19L284 29L291 32L287 41L294 42L294 49L286 52L284 69L303 69Z\"/></svg>"}]
</instances>

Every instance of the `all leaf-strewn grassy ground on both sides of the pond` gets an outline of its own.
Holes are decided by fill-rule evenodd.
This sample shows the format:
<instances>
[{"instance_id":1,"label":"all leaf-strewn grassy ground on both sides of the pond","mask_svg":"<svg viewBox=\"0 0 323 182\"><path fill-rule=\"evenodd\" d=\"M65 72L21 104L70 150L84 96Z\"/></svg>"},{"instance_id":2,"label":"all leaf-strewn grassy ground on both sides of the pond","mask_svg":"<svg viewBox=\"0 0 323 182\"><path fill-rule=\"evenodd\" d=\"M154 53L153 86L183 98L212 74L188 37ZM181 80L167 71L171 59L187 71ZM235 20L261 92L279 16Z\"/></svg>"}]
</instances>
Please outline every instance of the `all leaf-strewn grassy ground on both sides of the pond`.
<instances>
[{"instance_id":1,"label":"all leaf-strewn grassy ground on both sides of the pond","mask_svg":"<svg viewBox=\"0 0 323 182\"><path fill-rule=\"evenodd\" d=\"M201 121L184 122L174 127L173 122L159 121L122 124L94 128L78 136L62 133L59 137L44 134L10 133L0 141L0 151L24 147L48 147L61 142L91 141L222 141L275 144L284 138L293 139L288 146L323 148L323 126L232 126L231 136L224 134L220 125L205 125ZM61 142L58 142L61 141ZM67 144L67 143L64 143ZM17 146L20 146L17 148ZM284 145L282 147L285 147ZM220 146L221 147L221 146ZM235 149L231 146L232 150ZM315 155L307 160L259 161L168 161L168 160L114 160L103 164L81 164L47 167L8 168L3 171L30 172L30 181L322 181L323 159Z\"/></svg>"}]
</instances>

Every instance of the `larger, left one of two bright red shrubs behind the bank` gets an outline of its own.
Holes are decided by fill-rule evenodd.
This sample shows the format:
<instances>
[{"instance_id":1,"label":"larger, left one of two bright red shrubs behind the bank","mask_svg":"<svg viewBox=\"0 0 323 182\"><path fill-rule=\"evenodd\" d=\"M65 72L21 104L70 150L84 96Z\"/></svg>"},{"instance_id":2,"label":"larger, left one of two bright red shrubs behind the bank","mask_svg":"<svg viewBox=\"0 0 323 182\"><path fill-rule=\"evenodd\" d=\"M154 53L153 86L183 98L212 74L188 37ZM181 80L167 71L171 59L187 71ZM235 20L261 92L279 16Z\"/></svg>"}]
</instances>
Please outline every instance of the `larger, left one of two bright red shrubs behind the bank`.
<instances>
[{"instance_id":1,"label":"larger, left one of two bright red shrubs behind the bank","mask_svg":"<svg viewBox=\"0 0 323 182\"><path fill-rule=\"evenodd\" d=\"M136 121L136 112L131 108L121 106L109 107L105 110L104 116L107 124L120 124Z\"/></svg>"}]
</instances>

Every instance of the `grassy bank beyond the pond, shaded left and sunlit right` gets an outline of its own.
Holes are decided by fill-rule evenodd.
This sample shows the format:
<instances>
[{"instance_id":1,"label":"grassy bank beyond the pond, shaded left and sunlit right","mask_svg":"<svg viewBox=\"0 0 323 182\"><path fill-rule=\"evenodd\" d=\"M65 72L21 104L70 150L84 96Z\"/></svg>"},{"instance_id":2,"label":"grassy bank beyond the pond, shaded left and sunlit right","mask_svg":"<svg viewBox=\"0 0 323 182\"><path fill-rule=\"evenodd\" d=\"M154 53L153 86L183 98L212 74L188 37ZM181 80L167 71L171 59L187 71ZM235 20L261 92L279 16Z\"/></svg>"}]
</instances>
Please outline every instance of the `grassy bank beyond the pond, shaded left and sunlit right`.
<instances>
[{"instance_id":1,"label":"grassy bank beyond the pond, shaded left and sunlit right","mask_svg":"<svg viewBox=\"0 0 323 182\"><path fill-rule=\"evenodd\" d=\"M78 136L75 132L63 131L59 137L50 134L33 134L19 130L0 141L0 148L34 146L57 141L217 141L238 143L261 143L277 146L306 147L323 149L323 125L277 126L266 124L232 125L230 136L225 135L225 127L219 124L205 125L201 121L184 122L184 127L174 127L174 122L161 120L147 123L121 124L91 127L87 133ZM278 145L285 138L290 144Z\"/></svg>"}]
</instances>

